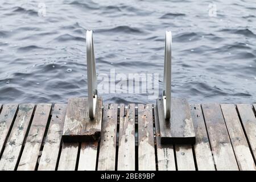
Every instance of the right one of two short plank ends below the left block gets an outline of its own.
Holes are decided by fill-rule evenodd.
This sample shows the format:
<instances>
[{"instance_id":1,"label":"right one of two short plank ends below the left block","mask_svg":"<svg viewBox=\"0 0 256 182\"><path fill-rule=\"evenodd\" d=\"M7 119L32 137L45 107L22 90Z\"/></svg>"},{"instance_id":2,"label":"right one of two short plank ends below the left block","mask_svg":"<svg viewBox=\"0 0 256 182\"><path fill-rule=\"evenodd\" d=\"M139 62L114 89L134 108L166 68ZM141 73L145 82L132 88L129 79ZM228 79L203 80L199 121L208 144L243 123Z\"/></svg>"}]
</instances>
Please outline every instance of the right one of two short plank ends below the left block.
<instances>
[{"instance_id":1,"label":"right one of two short plank ends below the left block","mask_svg":"<svg viewBox=\"0 0 256 182\"><path fill-rule=\"evenodd\" d=\"M95 171L98 141L82 142L78 171Z\"/></svg>"}]
</instances>

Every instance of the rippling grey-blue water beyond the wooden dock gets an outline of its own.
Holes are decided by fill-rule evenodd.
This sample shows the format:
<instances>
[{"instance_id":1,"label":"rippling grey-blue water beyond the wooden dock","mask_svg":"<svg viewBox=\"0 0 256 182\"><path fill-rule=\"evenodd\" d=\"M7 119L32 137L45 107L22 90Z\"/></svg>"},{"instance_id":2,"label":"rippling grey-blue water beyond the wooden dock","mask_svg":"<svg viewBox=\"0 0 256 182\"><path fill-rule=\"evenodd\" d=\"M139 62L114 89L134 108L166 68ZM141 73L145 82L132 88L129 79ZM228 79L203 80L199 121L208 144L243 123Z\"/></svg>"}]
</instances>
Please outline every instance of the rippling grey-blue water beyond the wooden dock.
<instances>
[{"instance_id":1,"label":"rippling grey-blue water beyond the wooden dock","mask_svg":"<svg viewBox=\"0 0 256 182\"><path fill-rule=\"evenodd\" d=\"M255 0L2 0L0 102L86 96L86 30L94 30L98 74L158 73L162 92L164 34L171 30L173 96L256 102ZM105 102L155 102L145 93L99 94Z\"/></svg>"}]
</instances>

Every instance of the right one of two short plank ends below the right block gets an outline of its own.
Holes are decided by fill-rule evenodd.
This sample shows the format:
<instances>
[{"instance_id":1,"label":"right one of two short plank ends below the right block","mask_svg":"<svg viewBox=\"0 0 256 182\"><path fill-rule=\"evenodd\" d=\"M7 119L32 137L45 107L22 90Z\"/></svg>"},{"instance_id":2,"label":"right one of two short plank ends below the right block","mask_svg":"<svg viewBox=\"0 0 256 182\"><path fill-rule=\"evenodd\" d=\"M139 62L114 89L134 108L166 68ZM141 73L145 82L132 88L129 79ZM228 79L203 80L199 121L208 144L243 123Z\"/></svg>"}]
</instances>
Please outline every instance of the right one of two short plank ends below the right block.
<instances>
[{"instance_id":1,"label":"right one of two short plank ends below the right block","mask_svg":"<svg viewBox=\"0 0 256 182\"><path fill-rule=\"evenodd\" d=\"M175 145L175 152L176 152L178 171L195 171L196 170L191 145L177 144Z\"/></svg>"}]
</instances>

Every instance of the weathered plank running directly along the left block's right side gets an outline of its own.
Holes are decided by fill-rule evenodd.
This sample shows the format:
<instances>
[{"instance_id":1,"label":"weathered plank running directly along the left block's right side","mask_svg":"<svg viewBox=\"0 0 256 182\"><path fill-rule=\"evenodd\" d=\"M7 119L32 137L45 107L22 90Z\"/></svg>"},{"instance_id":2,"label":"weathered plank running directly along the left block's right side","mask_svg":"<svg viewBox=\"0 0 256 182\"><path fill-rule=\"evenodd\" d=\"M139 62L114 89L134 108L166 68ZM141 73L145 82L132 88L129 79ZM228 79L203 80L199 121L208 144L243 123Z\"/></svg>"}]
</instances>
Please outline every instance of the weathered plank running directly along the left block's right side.
<instances>
[{"instance_id":1,"label":"weathered plank running directly along the left block's right side","mask_svg":"<svg viewBox=\"0 0 256 182\"><path fill-rule=\"evenodd\" d=\"M117 143L117 104L105 104L103 111L100 154L98 157L99 171L115 170L115 150Z\"/></svg>"}]
</instances>

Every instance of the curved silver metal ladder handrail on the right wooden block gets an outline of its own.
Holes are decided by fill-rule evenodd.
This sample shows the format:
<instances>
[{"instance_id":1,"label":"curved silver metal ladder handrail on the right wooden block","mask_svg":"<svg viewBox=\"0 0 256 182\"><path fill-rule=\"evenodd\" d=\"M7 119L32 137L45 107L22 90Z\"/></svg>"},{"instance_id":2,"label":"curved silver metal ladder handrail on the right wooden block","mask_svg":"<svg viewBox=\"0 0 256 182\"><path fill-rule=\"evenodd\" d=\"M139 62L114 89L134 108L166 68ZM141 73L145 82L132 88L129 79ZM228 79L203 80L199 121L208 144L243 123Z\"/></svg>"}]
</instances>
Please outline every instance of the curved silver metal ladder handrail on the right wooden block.
<instances>
[{"instance_id":1,"label":"curved silver metal ladder handrail on the right wooden block","mask_svg":"<svg viewBox=\"0 0 256 182\"><path fill-rule=\"evenodd\" d=\"M164 81L163 81L163 106L164 117L171 117L171 61L172 61L172 33L166 31L166 45L164 48Z\"/></svg>"}]
</instances>

